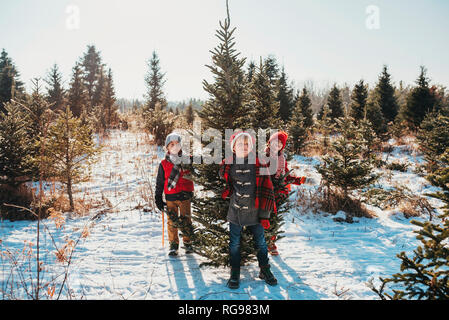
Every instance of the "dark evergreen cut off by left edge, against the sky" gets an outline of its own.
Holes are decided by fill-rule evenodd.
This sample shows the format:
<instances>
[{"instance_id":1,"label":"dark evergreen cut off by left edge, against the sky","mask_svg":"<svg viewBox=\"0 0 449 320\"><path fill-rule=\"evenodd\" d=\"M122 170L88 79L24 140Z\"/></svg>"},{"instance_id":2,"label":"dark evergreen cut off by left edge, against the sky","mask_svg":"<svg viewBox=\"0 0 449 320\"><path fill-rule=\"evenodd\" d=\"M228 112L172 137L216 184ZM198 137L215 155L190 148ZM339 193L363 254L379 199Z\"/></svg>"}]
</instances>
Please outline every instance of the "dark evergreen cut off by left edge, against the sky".
<instances>
[{"instance_id":1,"label":"dark evergreen cut off by left edge, against the sky","mask_svg":"<svg viewBox=\"0 0 449 320\"><path fill-rule=\"evenodd\" d=\"M0 54L0 112L12 98L21 99L25 93L20 74L5 49Z\"/></svg>"}]
</instances>

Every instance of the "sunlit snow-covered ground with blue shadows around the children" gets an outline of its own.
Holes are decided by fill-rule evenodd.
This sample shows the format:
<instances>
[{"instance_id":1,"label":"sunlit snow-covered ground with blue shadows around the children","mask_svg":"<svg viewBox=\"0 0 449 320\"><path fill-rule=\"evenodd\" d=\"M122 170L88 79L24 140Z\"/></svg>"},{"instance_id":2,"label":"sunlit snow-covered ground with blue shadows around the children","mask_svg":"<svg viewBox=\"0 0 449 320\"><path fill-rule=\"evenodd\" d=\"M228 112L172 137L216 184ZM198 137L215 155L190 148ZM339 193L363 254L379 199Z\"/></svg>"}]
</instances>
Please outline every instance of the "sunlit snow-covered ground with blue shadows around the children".
<instances>
[{"instance_id":1,"label":"sunlit snow-covered ground with blue shadows around the children","mask_svg":"<svg viewBox=\"0 0 449 320\"><path fill-rule=\"evenodd\" d=\"M61 299L377 299L366 282L374 278L378 284L379 276L398 272L400 260L396 254L411 252L418 243L411 219L394 210L370 207L376 218L356 218L355 223L347 224L335 222L333 215L295 209L285 216L286 237L278 242L280 255L270 257L279 284L270 287L257 279L255 262L242 268L240 288L230 290L225 286L228 269L200 268L204 258L187 256L182 249L178 257L168 257L166 234L162 247L162 217L146 210L162 156L163 151L156 152L146 143L144 134L112 133L92 170L92 179L80 184L74 195L100 201L103 206L92 208L82 217L64 215L61 229L53 220L43 221L40 277L49 286L41 298L57 298L68 274ZM403 157L409 162L416 159L405 153L390 157ZM317 163L316 158L294 157L290 166L297 168L298 175L307 175L311 183L293 186L292 200L298 196L297 188L316 187ZM424 178L410 170L394 172L391 180L407 184L417 194L431 189ZM80 237L85 227L89 234ZM30 291L29 278L34 279L36 267L34 259L26 258L27 251L22 249L32 242L28 257L34 257L36 230L37 222L0 223L2 299L30 298L24 284ZM79 242L67 265L57 261L55 245L61 248L70 240ZM22 257L17 265L8 252Z\"/></svg>"}]
</instances>

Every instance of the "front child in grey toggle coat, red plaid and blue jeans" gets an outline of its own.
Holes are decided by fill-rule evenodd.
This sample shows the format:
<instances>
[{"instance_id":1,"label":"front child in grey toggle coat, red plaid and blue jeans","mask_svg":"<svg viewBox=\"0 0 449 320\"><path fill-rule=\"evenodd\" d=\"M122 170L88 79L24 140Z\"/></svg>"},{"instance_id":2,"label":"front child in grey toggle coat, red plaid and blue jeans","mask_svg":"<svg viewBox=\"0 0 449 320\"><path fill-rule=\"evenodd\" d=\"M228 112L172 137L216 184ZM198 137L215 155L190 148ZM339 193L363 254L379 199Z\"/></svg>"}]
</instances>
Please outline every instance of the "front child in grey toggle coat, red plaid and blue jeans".
<instances>
[{"instance_id":1,"label":"front child in grey toggle coat, red plaid and blue jeans","mask_svg":"<svg viewBox=\"0 0 449 320\"><path fill-rule=\"evenodd\" d=\"M269 285L276 285L277 280L268 264L264 236L264 229L270 227L270 212L276 210L268 168L256 157L253 151L255 139L248 132L234 133L229 142L233 156L222 161L219 171L220 177L226 181L222 197L230 197L227 220L231 276L227 286L237 289L240 285L240 240L243 227L253 234L260 267L259 278ZM255 161L251 161L251 158Z\"/></svg>"}]
</instances>

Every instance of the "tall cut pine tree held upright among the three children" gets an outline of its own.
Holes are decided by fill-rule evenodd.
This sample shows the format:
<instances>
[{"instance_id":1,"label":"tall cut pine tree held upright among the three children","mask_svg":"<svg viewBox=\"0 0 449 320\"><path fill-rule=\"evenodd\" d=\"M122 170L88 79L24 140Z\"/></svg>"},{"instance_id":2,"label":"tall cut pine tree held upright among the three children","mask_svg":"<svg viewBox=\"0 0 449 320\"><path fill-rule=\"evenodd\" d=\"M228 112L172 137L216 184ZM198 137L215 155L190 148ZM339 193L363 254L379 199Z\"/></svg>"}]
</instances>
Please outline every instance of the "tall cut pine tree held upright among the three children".
<instances>
[{"instance_id":1,"label":"tall cut pine tree held upright among the three children","mask_svg":"<svg viewBox=\"0 0 449 320\"><path fill-rule=\"evenodd\" d=\"M231 29L229 11L224 23L220 21L217 37L220 43L212 53L212 65L208 68L214 75L214 82L203 81L209 99L198 112L205 128L224 133L225 129L249 126L247 108L247 77L243 70L245 58L240 58L234 42L235 28ZM222 134L220 145L222 155L225 139ZM206 142L204 142L206 144ZM203 159L205 159L203 154ZM208 265L225 266L229 264L229 230L226 224L229 201L221 198L224 181L219 177L219 164L202 163L194 165L193 179L201 185L202 197L193 198L192 218L197 224L193 242L195 252L207 258ZM254 259L254 249L248 245L249 235L244 232L241 257L242 263Z\"/></svg>"}]
</instances>

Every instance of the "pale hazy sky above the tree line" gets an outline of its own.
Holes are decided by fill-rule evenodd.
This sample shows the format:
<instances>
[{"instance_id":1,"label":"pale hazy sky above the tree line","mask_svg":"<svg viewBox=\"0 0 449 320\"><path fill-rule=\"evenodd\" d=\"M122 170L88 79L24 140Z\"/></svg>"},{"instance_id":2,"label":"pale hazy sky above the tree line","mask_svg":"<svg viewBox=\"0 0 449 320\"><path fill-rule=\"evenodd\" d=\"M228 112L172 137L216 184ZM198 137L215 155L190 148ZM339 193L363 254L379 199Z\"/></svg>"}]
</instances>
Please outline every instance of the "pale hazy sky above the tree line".
<instances>
[{"instance_id":1,"label":"pale hazy sky above the tree line","mask_svg":"<svg viewBox=\"0 0 449 320\"><path fill-rule=\"evenodd\" d=\"M432 83L449 86L447 0L229 0L229 6L236 49L248 61L274 55L298 88L304 81L352 86L362 78L373 85L383 64L395 84L412 84L425 65ZM369 6L377 11L367 12ZM225 15L224 0L2 1L0 48L29 89L30 79L44 77L54 63L68 85L75 62L95 44L124 98L143 97L146 61L156 50L170 101L206 99L202 81L212 75L205 65Z\"/></svg>"}]
</instances>

